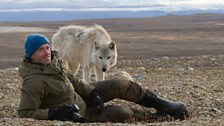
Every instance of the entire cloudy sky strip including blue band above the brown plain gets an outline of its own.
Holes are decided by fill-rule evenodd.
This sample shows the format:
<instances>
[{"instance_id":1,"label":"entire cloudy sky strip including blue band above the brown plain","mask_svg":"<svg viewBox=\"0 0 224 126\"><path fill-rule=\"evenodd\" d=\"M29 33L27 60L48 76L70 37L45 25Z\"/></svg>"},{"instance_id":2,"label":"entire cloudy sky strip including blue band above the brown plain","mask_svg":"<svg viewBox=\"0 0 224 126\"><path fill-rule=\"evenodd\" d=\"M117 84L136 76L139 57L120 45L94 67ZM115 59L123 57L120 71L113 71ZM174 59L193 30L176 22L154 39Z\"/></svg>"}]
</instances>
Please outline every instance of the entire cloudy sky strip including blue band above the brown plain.
<instances>
[{"instance_id":1,"label":"entire cloudy sky strip including blue band above the brown plain","mask_svg":"<svg viewBox=\"0 0 224 126\"><path fill-rule=\"evenodd\" d=\"M224 0L0 0L0 21L139 18L196 13L224 14Z\"/></svg>"}]
</instances>

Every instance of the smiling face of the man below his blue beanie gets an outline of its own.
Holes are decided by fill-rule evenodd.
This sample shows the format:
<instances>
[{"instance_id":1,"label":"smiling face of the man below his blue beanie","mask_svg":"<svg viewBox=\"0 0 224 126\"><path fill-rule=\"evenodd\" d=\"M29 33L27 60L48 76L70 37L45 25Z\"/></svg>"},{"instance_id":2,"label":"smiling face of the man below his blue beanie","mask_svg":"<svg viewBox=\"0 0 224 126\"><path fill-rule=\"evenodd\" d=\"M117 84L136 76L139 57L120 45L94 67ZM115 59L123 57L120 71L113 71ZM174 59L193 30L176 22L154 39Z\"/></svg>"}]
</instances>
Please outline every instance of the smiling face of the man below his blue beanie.
<instances>
[{"instance_id":1,"label":"smiling face of the man below his blue beanie","mask_svg":"<svg viewBox=\"0 0 224 126\"><path fill-rule=\"evenodd\" d=\"M43 44L31 56L34 63L41 63L44 65L51 63L51 49L49 44Z\"/></svg>"}]
</instances>

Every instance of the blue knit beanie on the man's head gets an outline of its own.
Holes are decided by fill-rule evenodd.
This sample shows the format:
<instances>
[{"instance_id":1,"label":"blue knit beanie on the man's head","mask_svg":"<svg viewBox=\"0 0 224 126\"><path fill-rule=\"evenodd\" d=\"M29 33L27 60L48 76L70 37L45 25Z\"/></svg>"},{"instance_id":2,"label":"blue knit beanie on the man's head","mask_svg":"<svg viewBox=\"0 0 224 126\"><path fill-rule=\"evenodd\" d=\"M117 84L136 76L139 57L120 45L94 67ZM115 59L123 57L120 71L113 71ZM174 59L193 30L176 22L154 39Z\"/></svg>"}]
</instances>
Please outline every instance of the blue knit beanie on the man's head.
<instances>
[{"instance_id":1,"label":"blue knit beanie on the man's head","mask_svg":"<svg viewBox=\"0 0 224 126\"><path fill-rule=\"evenodd\" d=\"M25 55L27 58L31 58L33 53L43 44L49 44L47 37L41 34L30 34L26 37L24 42Z\"/></svg>"}]
</instances>

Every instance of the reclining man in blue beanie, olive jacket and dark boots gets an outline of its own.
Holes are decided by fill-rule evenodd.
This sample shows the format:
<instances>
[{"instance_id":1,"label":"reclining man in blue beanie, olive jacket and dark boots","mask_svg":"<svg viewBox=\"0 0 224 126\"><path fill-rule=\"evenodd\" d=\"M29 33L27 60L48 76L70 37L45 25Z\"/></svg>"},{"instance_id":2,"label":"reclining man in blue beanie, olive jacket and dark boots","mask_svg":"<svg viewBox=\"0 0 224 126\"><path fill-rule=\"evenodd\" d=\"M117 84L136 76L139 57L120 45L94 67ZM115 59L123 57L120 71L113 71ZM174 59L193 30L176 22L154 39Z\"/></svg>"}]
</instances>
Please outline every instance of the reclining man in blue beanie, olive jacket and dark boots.
<instances>
[{"instance_id":1,"label":"reclining man in blue beanie, olive jacket and dark boots","mask_svg":"<svg viewBox=\"0 0 224 126\"><path fill-rule=\"evenodd\" d=\"M25 58L19 67L23 78L20 117L69 120L73 122L124 122L135 116L126 107L108 105L104 102L120 98L145 107L155 108L174 119L188 116L182 102L160 98L148 89L128 80L105 80L85 84L66 70L57 52L49 46L49 40L41 34L28 35Z\"/></svg>"}]
</instances>

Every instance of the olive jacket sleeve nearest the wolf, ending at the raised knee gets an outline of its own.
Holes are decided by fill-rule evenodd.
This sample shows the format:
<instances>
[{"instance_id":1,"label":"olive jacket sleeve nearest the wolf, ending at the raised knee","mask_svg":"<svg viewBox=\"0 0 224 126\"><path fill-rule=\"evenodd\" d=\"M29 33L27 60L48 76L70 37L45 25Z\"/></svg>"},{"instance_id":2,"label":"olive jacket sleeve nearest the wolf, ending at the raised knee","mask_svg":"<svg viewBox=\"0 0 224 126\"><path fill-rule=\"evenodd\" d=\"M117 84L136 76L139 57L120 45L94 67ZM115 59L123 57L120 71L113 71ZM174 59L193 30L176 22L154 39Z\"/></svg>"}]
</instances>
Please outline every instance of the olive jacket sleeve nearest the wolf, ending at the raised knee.
<instances>
[{"instance_id":1,"label":"olive jacket sleeve nearest the wolf, ending at the raised knee","mask_svg":"<svg viewBox=\"0 0 224 126\"><path fill-rule=\"evenodd\" d=\"M87 99L95 88L94 86L75 78L71 72L68 72L68 79L71 81L75 91L84 99Z\"/></svg>"}]
</instances>

